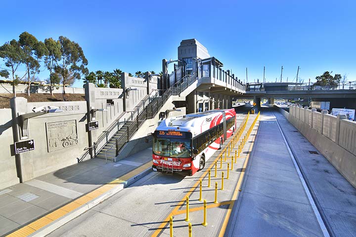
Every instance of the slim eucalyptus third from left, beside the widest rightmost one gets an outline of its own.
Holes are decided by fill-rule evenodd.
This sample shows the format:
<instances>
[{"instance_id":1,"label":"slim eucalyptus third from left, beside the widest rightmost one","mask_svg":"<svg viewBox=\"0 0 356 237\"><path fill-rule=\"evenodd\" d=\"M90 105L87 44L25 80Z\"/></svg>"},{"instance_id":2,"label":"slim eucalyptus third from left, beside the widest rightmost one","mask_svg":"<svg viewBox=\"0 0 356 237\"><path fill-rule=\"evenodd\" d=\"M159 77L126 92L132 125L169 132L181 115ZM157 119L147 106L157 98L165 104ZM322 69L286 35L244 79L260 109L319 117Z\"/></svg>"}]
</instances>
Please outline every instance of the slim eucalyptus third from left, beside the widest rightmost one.
<instances>
[{"instance_id":1,"label":"slim eucalyptus third from left, beside the widest rightmost one","mask_svg":"<svg viewBox=\"0 0 356 237\"><path fill-rule=\"evenodd\" d=\"M48 38L45 39L45 47L48 51L48 54L45 55L45 66L49 71L49 90L51 95L53 95L52 84L60 83L60 78L58 77L59 75L54 73L54 68L57 65L58 60L60 60L62 56L61 44L59 40L53 40L52 38Z\"/></svg>"}]
</instances>

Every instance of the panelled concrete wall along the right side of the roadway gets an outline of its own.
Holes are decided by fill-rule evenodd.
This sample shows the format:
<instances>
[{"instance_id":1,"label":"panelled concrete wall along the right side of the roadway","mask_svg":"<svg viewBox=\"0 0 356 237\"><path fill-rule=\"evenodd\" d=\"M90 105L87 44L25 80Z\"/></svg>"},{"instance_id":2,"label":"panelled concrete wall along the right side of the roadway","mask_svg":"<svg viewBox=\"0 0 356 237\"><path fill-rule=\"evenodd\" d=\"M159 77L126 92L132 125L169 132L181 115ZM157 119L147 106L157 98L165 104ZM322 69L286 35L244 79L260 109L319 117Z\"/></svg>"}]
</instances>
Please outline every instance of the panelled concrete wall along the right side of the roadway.
<instances>
[{"instance_id":1,"label":"panelled concrete wall along the right side of the roadway","mask_svg":"<svg viewBox=\"0 0 356 237\"><path fill-rule=\"evenodd\" d=\"M295 116L302 110L309 115L308 123ZM296 106L291 106L292 113L279 111L356 188L356 122Z\"/></svg>"}]
</instances>

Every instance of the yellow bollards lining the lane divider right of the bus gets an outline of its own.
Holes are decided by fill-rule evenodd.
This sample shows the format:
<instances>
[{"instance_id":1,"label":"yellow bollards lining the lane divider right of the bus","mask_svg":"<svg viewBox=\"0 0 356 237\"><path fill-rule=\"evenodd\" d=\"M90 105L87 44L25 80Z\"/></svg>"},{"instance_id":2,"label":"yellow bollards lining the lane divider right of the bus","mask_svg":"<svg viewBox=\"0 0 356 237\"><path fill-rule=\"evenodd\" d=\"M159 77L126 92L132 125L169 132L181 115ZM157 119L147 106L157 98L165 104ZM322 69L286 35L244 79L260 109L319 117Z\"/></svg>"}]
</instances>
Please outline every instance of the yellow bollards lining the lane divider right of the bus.
<instances>
[{"instance_id":1,"label":"yellow bollards lining the lane divider right of the bus","mask_svg":"<svg viewBox=\"0 0 356 237\"><path fill-rule=\"evenodd\" d=\"M246 128L247 125L247 120L249 118L249 114L247 114L246 118L244 119L242 126L240 127L240 129L237 131L237 134L235 137L233 137L233 139L230 141L230 143L228 144L227 147L227 152L226 149L224 151L224 161L226 162L227 156L230 157L230 152L232 152L232 147L235 147L235 145L237 144L238 140L240 139L242 132L244 131L244 129ZM251 131L249 131L251 132ZM240 143L240 145L238 146L238 151L235 150L235 163L237 162L237 157L240 157L240 153L242 151L243 145L245 144L246 141L246 134L243 137L243 142ZM230 163L227 163L227 177L226 179L229 179L229 170L233 170L233 163L234 163L234 158L233 156L231 156L231 166ZM223 168L223 156L221 155L220 157L220 168ZM211 187L211 170L208 170L208 187ZM218 162L215 161L215 175L214 177L218 177ZM221 184L221 190L224 190L224 172L222 171L222 184ZM199 180L199 201L202 200L202 180ZM189 197L186 197L186 217L185 217L185 221L189 222ZM214 203L218 203L218 182L215 182L215 198L214 198ZM207 226L207 205L206 205L206 199L204 199L204 219L203 219L203 226ZM188 234L189 237L192 237L192 225L189 222L188 224ZM170 217L170 236L173 237L173 216Z\"/></svg>"}]
</instances>

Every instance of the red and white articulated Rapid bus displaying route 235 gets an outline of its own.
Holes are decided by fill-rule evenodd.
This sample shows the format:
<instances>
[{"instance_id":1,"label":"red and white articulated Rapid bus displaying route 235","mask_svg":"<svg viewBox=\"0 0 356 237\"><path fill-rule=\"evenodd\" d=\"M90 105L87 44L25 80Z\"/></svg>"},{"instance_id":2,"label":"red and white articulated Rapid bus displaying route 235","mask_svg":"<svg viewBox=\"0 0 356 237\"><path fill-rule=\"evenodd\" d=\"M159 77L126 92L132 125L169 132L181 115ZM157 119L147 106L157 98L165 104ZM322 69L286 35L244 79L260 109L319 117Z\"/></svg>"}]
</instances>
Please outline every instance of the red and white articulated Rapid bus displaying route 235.
<instances>
[{"instance_id":1,"label":"red and white articulated Rapid bus displaying route 235","mask_svg":"<svg viewBox=\"0 0 356 237\"><path fill-rule=\"evenodd\" d=\"M153 134L153 171L193 175L236 129L234 109L164 119Z\"/></svg>"}]
</instances>

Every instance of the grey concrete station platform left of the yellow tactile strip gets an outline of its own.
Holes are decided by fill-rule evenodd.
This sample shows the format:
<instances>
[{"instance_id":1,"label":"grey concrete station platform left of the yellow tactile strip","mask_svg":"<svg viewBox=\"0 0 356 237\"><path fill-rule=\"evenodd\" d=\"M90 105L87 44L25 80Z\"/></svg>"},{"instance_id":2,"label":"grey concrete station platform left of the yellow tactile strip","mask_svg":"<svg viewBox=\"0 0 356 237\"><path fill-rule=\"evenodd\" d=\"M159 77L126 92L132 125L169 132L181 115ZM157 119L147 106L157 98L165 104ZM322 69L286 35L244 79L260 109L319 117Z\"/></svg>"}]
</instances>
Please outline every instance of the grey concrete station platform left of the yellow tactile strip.
<instances>
[{"instance_id":1,"label":"grey concrete station platform left of the yellow tactile strip","mask_svg":"<svg viewBox=\"0 0 356 237\"><path fill-rule=\"evenodd\" d=\"M151 160L152 149L116 163L94 158L0 190L0 236L26 226L147 162L150 167Z\"/></svg>"}]
</instances>

